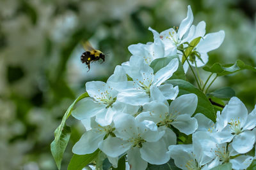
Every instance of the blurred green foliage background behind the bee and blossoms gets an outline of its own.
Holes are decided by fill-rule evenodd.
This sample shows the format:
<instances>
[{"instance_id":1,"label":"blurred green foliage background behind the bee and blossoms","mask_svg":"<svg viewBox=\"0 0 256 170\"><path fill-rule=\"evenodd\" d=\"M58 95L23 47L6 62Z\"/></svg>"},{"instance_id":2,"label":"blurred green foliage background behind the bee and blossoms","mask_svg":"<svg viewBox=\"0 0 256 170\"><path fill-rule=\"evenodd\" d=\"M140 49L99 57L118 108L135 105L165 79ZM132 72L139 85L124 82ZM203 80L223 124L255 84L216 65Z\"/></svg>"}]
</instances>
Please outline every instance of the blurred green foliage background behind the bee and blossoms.
<instances>
[{"instance_id":1,"label":"blurred green foliage background behind the bee and blossoms","mask_svg":"<svg viewBox=\"0 0 256 170\"><path fill-rule=\"evenodd\" d=\"M53 132L84 83L106 81L116 65L129 60L129 45L153 41L149 26L159 32L178 26L188 4L194 24L204 20L207 32L225 31L221 47L209 52L209 66L237 59L256 66L255 0L1 0L0 169L56 169ZM87 72L79 59L81 39L109 53L106 62L93 63ZM218 78L211 90L227 86L253 109L256 73ZM84 131L74 118L67 124L72 136L62 169Z\"/></svg>"}]
</instances>

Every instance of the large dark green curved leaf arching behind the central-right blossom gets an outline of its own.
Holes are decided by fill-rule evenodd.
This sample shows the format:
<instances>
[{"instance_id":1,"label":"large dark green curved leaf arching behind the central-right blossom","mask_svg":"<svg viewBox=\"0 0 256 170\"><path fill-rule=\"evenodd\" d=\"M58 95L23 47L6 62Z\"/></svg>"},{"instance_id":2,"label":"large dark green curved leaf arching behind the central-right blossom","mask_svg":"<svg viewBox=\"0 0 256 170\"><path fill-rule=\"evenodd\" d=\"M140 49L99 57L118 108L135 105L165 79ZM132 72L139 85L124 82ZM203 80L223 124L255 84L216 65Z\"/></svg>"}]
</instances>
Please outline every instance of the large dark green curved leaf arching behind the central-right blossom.
<instances>
[{"instance_id":1,"label":"large dark green curved leaf arching behind the central-right blossom","mask_svg":"<svg viewBox=\"0 0 256 170\"><path fill-rule=\"evenodd\" d=\"M212 107L211 102L205 96L205 94L198 90L194 85L184 80L168 80L168 83L179 86L179 96L182 94L196 94L198 97L198 104L195 113L202 113L206 117L210 118L213 122L216 122L216 114Z\"/></svg>"}]
</instances>

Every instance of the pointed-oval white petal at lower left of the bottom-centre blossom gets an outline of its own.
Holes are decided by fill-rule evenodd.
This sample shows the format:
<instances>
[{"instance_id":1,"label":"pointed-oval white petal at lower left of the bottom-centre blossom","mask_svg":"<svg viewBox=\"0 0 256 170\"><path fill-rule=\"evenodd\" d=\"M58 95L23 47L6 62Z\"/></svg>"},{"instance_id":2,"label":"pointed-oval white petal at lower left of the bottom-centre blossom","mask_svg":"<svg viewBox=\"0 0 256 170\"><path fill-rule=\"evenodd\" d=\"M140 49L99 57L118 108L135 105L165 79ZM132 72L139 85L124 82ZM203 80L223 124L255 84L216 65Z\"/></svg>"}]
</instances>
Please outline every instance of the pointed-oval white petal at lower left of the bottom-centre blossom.
<instances>
[{"instance_id":1,"label":"pointed-oval white petal at lower left of the bottom-centre blossom","mask_svg":"<svg viewBox=\"0 0 256 170\"><path fill-rule=\"evenodd\" d=\"M128 143L122 139L109 136L102 143L100 143L99 148L109 157L118 157L127 152L131 146L132 143Z\"/></svg>"}]
</instances>

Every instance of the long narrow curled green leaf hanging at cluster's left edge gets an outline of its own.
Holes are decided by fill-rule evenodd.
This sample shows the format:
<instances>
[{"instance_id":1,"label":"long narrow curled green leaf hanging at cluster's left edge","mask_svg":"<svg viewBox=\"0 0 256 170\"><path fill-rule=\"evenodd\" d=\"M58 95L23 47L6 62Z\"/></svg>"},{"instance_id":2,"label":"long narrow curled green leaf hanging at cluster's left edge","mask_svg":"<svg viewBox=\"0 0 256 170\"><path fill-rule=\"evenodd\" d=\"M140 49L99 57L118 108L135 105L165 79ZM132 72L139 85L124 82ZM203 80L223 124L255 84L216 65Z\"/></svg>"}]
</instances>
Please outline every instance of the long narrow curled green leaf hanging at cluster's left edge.
<instances>
[{"instance_id":1,"label":"long narrow curled green leaf hanging at cluster's left edge","mask_svg":"<svg viewBox=\"0 0 256 170\"><path fill-rule=\"evenodd\" d=\"M67 147L69 138L70 138L70 127L68 127L65 122L67 118L70 116L71 111L74 108L74 105L83 99L84 97L88 97L88 93L85 92L84 94L81 94L81 96L77 97L77 99L72 103L68 110L66 111L65 115L62 118L61 124L59 127L54 131L54 141L51 143L51 152L52 156L56 162L56 165L58 169L61 167L61 160L63 157L63 153L65 152L65 149Z\"/></svg>"}]
</instances>

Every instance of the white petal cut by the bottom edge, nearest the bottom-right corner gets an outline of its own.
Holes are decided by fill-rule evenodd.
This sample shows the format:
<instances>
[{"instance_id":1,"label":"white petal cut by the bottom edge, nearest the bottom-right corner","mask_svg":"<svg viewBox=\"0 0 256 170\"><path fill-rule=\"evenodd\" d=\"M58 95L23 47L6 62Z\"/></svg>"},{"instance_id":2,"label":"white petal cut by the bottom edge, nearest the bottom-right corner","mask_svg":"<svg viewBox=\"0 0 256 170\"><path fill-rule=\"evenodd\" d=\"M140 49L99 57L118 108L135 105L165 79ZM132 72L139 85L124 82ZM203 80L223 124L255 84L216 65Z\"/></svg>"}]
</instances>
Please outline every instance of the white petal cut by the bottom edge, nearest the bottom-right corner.
<instances>
[{"instance_id":1,"label":"white petal cut by the bottom edge, nearest the bottom-right corner","mask_svg":"<svg viewBox=\"0 0 256 170\"><path fill-rule=\"evenodd\" d=\"M253 157L247 155L241 155L234 159L230 159L229 162L232 164L233 169L246 169L252 164Z\"/></svg>"}]
</instances>

